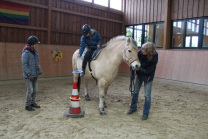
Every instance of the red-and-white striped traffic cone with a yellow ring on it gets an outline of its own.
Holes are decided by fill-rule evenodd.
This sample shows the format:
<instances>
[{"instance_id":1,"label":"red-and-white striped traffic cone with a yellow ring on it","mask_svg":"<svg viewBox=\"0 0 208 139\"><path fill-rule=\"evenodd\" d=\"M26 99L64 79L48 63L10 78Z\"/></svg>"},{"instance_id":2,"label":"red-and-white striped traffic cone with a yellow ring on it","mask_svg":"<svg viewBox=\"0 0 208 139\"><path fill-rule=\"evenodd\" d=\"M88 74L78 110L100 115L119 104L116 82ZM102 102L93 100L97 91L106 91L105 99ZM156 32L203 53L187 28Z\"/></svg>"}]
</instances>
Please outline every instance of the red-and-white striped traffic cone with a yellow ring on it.
<instances>
[{"instance_id":1,"label":"red-and-white striped traffic cone with a yellow ring on it","mask_svg":"<svg viewBox=\"0 0 208 139\"><path fill-rule=\"evenodd\" d=\"M66 117L72 117L72 118L83 117L84 114L85 114L85 111L80 108L80 104L79 104L80 98L79 98L79 95L78 95L77 82L76 81L74 81L72 95L71 95L70 99L71 99L71 106L66 111L65 116Z\"/></svg>"}]
</instances>

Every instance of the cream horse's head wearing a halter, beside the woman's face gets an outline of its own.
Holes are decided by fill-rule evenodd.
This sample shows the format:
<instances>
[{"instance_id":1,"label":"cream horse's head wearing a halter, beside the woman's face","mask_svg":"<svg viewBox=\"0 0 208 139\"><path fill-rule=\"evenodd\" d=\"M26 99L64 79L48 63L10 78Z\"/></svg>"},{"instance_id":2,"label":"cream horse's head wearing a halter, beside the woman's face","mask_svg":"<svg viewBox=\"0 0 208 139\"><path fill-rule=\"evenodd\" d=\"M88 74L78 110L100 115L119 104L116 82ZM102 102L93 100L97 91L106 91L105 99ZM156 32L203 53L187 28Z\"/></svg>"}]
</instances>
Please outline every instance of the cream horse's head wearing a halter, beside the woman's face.
<instances>
[{"instance_id":1,"label":"cream horse's head wearing a halter, beside the woman's face","mask_svg":"<svg viewBox=\"0 0 208 139\"><path fill-rule=\"evenodd\" d=\"M126 40L125 48L123 50L124 61L135 70L139 70L141 64L138 59L138 47L136 41L132 38Z\"/></svg>"}]
</instances>

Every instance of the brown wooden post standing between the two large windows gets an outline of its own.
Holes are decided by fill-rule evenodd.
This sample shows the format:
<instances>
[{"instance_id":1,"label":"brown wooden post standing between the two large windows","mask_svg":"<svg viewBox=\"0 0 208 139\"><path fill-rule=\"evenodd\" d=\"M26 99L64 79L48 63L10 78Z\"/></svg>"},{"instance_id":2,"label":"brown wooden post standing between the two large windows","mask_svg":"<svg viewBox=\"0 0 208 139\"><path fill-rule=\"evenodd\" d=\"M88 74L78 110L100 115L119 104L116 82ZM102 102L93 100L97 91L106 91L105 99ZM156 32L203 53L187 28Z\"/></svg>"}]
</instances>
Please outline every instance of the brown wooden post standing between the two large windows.
<instances>
[{"instance_id":1,"label":"brown wooden post standing between the two large windows","mask_svg":"<svg viewBox=\"0 0 208 139\"><path fill-rule=\"evenodd\" d=\"M171 0L165 0L163 49L170 49L171 35Z\"/></svg>"}]
</instances>

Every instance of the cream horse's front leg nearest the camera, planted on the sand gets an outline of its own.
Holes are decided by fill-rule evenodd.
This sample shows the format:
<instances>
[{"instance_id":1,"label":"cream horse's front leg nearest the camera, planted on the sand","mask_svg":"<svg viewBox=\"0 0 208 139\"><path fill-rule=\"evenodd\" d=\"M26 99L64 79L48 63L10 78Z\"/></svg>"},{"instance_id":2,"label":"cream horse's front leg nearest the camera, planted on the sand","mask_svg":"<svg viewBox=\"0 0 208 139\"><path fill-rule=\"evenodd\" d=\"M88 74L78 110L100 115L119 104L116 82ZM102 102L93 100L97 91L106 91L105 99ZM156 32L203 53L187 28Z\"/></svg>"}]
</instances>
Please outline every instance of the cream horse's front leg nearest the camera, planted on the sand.
<instances>
[{"instance_id":1,"label":"cream horse's front leg nearest the camera, planted on the sand","mask_svg":"<svg viewBox=\"0 0 208 139\"><path fill-rule=\"evenodd\" d=\"M99 93L100 93L100 104L99 104L100 115L106 115L105 110L104 110L105 81L99 80L98 87L99 87Z\"/></svg>"}]
</instances>

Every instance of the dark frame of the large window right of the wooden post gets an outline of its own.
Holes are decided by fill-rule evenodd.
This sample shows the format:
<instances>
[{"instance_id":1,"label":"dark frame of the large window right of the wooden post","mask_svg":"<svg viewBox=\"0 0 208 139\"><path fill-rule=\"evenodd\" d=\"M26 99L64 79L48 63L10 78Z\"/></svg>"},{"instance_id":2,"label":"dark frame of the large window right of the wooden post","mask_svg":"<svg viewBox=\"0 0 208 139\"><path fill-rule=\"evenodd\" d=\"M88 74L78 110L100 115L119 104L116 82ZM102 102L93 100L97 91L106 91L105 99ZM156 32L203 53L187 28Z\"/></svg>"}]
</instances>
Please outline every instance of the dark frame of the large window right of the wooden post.
<instances>
[{"instance_id":1,"label":"dark frame of the large window right of the wooden post","mask_svg":"<svg viewBox=\"0 0 208 139\"><path fill-rule=\"evenodd\" d=\"M171 22L171 38L170 38L170 48L171 49L208 49L208 47L202 47L203 46L203 32L204 32L204 20L208 19L208 17L201 17L201 18L189 18L189 19L182 19L182 20L172 20ZM190 20L199 20L199 24L197 23L196 25L197 27L197 32L198 35L190 35L187 34L187 27L189 28L190 24ZM183 31L182 31L182 35L183 35L183 42L181 44L180 47L174 47L173 46L173 28L174 28L174 22L184 22L184 26L183 26ZM197 47L190 47L192 46L192 39L193 37L198 37L198 43L197 43ZM189 47L187 47L187 38L189 38L190 40L188 40L189 42Z\"/></svg>"}]
</instances>

